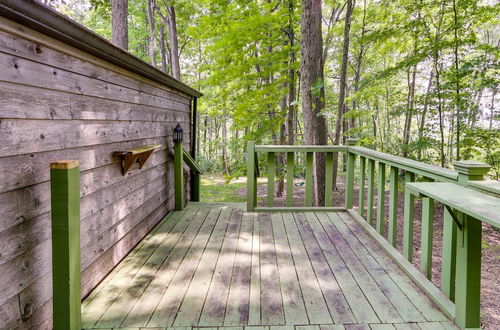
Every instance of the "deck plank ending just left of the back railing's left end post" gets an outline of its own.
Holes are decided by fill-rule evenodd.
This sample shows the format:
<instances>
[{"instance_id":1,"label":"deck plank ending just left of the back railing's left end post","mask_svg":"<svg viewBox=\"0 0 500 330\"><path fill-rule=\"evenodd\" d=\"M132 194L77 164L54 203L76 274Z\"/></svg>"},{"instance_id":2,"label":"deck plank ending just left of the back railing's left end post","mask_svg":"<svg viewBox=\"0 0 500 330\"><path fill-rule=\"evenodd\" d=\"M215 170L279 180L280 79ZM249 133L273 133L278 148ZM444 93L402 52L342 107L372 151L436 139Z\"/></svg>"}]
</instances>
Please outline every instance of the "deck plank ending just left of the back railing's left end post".
<instances>
[{"instance_id":1,"label":"deck plank ending just left of the back railing's left end post","mask_svg":"<svg viewBox=\"0 0 500 330\"><path fill-rule=\"evenodd\" d=\"M210 284L207 299L205 300L198 323L200 326L221 326L224 322L241 218L242 211L240 209L233 209L226 237L224 237L224 242L222 243L221 255L217 261L212 283Z\"/></svg>"}]
</instances>

